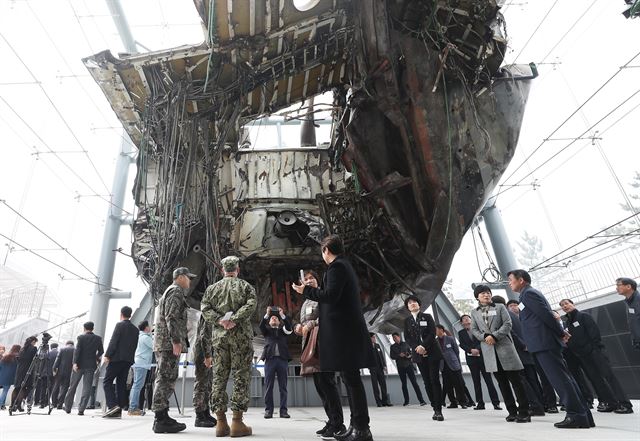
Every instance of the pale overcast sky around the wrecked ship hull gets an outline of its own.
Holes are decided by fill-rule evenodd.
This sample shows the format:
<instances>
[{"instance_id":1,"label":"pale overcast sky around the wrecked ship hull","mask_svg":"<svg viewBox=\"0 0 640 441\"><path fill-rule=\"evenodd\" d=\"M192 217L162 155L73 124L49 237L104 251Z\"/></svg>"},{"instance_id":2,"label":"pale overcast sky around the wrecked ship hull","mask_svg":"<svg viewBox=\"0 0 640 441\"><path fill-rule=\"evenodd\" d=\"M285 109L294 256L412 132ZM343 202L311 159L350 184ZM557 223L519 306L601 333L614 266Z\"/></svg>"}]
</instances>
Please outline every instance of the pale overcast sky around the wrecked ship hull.
<instances>
[{"instance_id":1,"label":"pale overcast sky around the wrecked ship hull","mask_svg":"<svg viewBox=\"0 0 640 441\"><path fill-rule=\"evenodd\" d=\"M122 3L135 39L151 50L197 44L203 39L191 0ZM519 63L535 62L540 71L531 89L518 149L505 177L620 66L640 52L640 23L626 20L620 13L623 9L622 0L585 0L579 6L571 0L514 0L505 8L510 39L507 61L517 58ZM547 12L548 17L534 34ZM68 253L3 204L0 234L89 279L98 265L108 208L105 199L111 189L122 133L80 59L105 49L114 54L123 50L105 2L0 0L0 200ZM636 68L619 72L553 138L581 135L631 97L640 87L640 56L631 65ZM638 105L640 93L584 136L593 136L595 130L603 132ZM552 255L625 216L615 178L627 185L633 172L640 169L637 130L633 130L638 115L637 110L632 111L596 143L574 143L499 197L498 205L514 245L522 232L528 231L539 236L545 254ZM297 139L297 133L287 137ZM318 137L318 141L323 140L328 140L325 128ZM569 142L543 143L507 184L518 183ZM606 167L607 161L615 175ZM130 181L134 173L132 167ZM535 191L527 185L534 179L539 184ZM130 189L131 184L124 207L128 211L133 210ZM124 253L130 252L130 242L130 230L125 227L120 236ZM16 244L7 254L5 244L9 243L0 237L0 264L6 257L7 266L57 291L64 305L61 313L72 315L88 309L91 283L74 280L68 271ZM456 256L450 278L458 296L470 295L470 283L479 281L469 235ZM124 255L118 256L113 285L133 291L134 298L128 303L134 307L145 292L131 260ZM112 311L122 303L113 303Z\"/></svg>"}]
</instances>

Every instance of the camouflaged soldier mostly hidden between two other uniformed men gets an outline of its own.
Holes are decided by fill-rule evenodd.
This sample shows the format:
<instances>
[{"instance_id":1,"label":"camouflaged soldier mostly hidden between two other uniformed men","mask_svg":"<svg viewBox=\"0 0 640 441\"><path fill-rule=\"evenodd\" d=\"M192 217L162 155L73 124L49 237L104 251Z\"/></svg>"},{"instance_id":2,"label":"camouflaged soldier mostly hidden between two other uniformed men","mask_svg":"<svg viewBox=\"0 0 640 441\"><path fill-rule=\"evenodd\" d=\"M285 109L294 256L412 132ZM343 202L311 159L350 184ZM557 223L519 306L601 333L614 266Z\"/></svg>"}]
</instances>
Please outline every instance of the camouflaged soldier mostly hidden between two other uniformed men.
<instances>
[{"instance_id":1,"label":"camouflaged soldier mostly hidden between two other uniformed men","mask_svg":"<svg viewBox=\"0 0 640 441\"><path fill-rule=\"evenodd\" d=\"M216 419L209 413L211 397L211 325L204 316L198 322L198 336L194 347L193 363L196 367L196 379L193 384L193 407L196 411L196 427L215 427Z\"/></svg>"}]
</instances>

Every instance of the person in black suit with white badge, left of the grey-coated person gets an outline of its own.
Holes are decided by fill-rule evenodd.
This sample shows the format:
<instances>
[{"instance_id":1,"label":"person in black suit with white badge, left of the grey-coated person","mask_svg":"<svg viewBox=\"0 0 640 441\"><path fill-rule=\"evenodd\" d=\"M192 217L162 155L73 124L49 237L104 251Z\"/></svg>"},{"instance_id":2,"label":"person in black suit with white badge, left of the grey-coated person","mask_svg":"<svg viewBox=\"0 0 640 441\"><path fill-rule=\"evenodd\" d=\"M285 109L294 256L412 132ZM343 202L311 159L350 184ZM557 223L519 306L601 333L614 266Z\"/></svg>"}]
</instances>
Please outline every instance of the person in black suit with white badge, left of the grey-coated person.
<instances>
[{"instance_id":1,"label":"person in black suit with white badge, left of the grey-coated person","mask_svg":"<svg viewBox=\"0 0 640 441\"><path fill-rule=\"evenodd\" d=\"M404 321L404 337L413 351L413 361L418 365L425 387L431 389L433 420L444 421L442 416L442 386L440 384L440 360L442 351L436 341L436 323L431 314L420 312L422 303L414 295L404 301L409 317ZM427 390L429 393L429 390Z\"/></svg>"}]
</instances>

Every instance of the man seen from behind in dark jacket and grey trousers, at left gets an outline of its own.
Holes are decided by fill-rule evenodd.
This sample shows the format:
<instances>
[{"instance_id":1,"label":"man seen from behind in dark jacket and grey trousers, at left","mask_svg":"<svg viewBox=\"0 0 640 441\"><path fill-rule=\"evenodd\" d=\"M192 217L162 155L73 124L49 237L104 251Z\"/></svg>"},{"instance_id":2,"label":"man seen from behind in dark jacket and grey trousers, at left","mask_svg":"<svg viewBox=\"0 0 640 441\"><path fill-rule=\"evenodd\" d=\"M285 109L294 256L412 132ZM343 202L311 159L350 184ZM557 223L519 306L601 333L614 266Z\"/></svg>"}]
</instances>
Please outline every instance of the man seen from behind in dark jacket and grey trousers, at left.
<instances>
[{"instance_id":1,"label":"man seen from behind in dark jacket and grey trousers, at left","mask_svg":"<svg viewBox=\"0 0 640 441\"><path fill-rule=\"evenodd\" d=\"M100 357L104 353L102 346L102 337L93 333L93 322L84 324L84 334L78 336L76 350L73 353L73 374L71 374L71 382L69 391L64 399L64 411L71 413L73 400L76 396L76 389L82 380L82 397L78 404L78 415L84 415L87 408L89 396L91 395L91 384L93 383L93 374L98 367Z\"/></svg>"}]
</instances>

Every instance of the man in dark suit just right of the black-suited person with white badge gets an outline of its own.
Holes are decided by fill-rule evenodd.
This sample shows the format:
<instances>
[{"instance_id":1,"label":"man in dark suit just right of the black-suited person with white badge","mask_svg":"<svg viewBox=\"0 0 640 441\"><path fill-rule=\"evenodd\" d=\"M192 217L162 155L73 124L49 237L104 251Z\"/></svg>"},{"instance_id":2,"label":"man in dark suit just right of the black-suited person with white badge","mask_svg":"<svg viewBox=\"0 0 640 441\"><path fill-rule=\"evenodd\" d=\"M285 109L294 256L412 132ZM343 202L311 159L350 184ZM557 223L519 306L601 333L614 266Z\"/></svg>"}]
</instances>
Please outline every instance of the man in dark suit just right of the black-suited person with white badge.
<instances>
[{"instance_id":1,"label":"man in dark suit just right of the black-suited person with white badge","mask_svg":"<svg viewBox=\"0 0 640 441\"><path fill-rule=\"evenodd\" d=\"M462 379L462 365L460 364L460 350L456 339L447 335L444 326L436 325L436 337L442 351L442 361L440 362L440 371L442 372L443 392L442 398L444 404L444 396L453 397L455 391L455 400L451 401L449 408L455 409L460 407L467 408L467 394L464 389L464 380Z\"/></svg>"}]
</instances>

